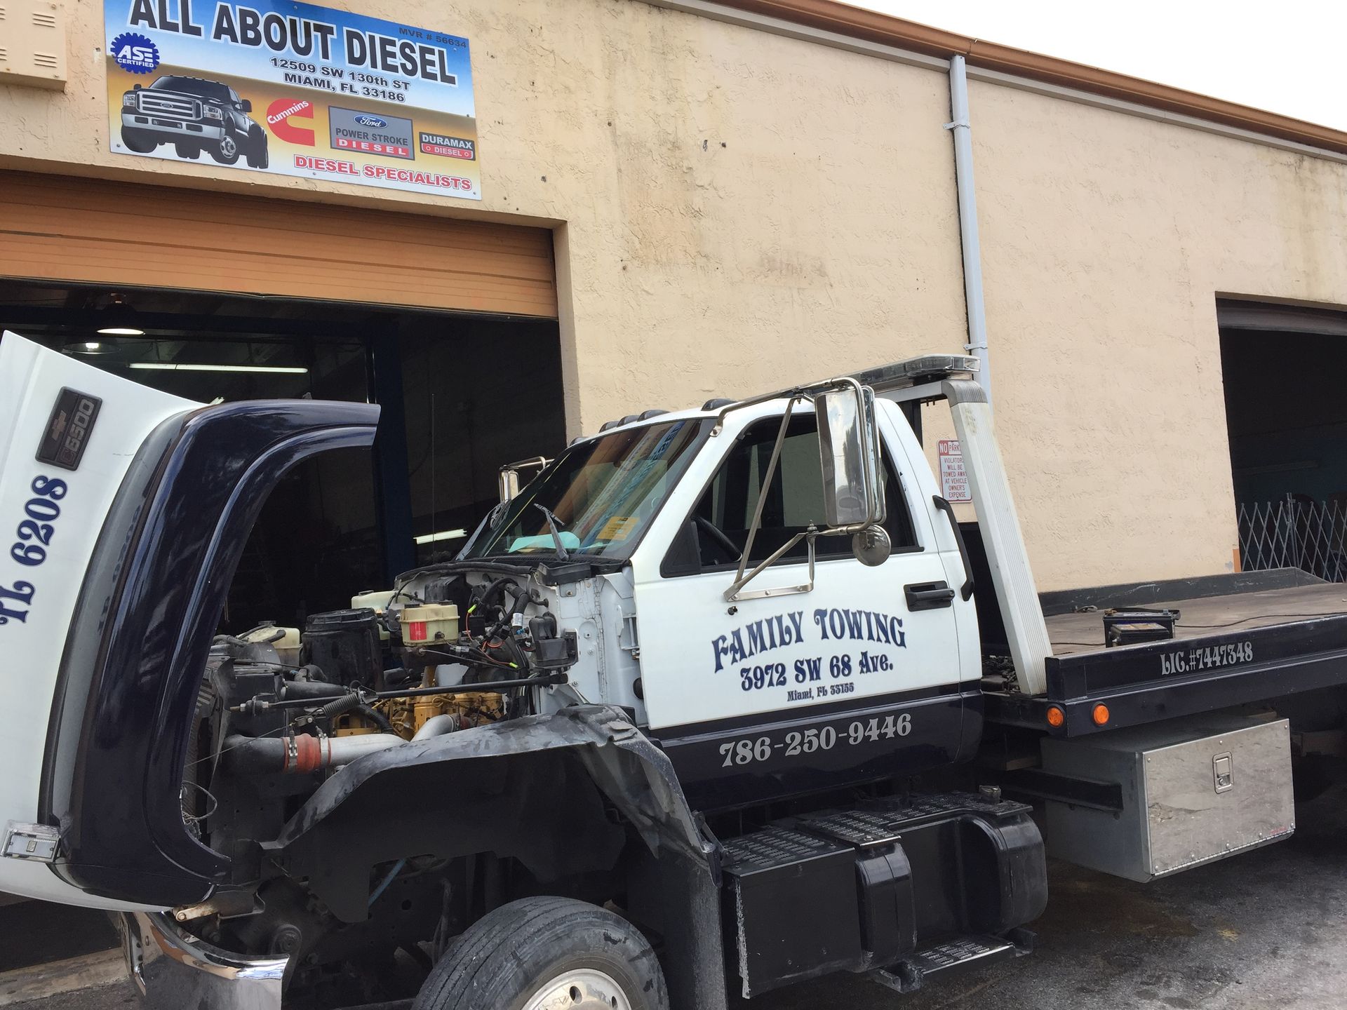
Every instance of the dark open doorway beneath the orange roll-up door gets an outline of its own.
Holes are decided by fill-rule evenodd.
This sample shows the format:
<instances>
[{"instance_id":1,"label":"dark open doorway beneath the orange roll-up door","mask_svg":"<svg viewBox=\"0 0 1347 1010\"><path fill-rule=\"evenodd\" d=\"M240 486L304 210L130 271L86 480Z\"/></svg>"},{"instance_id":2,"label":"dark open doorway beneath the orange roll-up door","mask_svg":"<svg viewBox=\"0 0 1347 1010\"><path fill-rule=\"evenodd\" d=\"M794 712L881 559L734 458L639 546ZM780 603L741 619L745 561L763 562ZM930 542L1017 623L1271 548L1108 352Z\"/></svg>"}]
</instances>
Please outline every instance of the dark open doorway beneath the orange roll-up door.
<instances>
[{"instance_id":1,"label":"dark open doorway beneath the orange roll-up door","mask_svg":"<svg viewBox=\"0 0 1347 1010\"><path fill-rule=\"evenodd\" d=\"M497 470L564 446L555 319L0 277L0 329L198 403L379 403L372 450L323 452L268 498L221 630L303 626L453 555Z\"/></svg>"}]
</instances>

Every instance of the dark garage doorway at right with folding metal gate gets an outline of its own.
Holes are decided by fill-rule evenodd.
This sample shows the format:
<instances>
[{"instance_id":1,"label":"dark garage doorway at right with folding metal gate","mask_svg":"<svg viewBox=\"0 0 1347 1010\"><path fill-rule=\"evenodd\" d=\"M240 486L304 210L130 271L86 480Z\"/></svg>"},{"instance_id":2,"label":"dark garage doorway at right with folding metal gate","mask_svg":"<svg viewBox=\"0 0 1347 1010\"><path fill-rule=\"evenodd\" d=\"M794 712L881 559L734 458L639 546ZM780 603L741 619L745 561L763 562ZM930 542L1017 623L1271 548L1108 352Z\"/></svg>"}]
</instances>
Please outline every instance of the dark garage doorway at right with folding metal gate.
<instances>
[{"instance_id":1,"label":"dark garage doorway at right with folding metal gate","mask_svg":"<svg viewBox=\"0 0 1347 1010\"><path fill-rule=\"evenodd\" d=\"M1347 312L1218 302L1245 570L1347 582Z\"/></svg>"}]
</instances>

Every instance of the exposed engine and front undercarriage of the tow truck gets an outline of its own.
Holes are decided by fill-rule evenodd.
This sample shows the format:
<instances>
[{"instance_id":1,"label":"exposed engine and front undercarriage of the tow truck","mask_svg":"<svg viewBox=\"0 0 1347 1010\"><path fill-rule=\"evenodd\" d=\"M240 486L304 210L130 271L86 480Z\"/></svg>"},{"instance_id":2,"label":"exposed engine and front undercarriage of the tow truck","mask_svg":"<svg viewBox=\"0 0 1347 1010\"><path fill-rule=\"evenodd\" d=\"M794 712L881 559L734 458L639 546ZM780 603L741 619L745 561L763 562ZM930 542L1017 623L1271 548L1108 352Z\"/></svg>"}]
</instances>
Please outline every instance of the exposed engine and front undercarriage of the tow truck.
<instances>
[{"instance_id":1,"label":"exposed engine and front undercarriage of the tow truck","mask_svg":"<svg viewBox=\"0 0 1347 1010\"><path fill-rule=\"evenodd\" d=\"M267 624L218 636L210 652L182 808L193 834L229 856L233 879L175 914L213 943L291 955L290 975L307 992L356 979L368 987L380 968L393 971L397 949L427 967L458 932L469 870L431 858L376 866L368 918L338 922L268 856L268 842L358 758L535 714L546 689L568 689L575 633L558 633L539 584L443 567L457 566L411 572L350 610L311 615L303 632Z\"/></svg>"}]
</instances>

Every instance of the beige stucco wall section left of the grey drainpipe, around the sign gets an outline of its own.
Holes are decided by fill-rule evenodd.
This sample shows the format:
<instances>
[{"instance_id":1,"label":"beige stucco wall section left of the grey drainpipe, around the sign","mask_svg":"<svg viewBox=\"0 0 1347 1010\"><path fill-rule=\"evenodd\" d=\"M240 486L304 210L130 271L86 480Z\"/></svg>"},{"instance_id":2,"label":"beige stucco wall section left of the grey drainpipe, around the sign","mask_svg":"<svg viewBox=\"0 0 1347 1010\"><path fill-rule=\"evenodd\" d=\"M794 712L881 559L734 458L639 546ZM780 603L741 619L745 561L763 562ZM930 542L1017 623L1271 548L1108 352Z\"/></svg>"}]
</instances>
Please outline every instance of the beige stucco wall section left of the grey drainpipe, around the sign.
<instances>
[{"instance_id":1,"label":"beige stucco wall section left of the grey drainpipe, around the sign","mask_svg":"<svg viewBox=\"0 0 1347 1010\"><path fill-rule=\"evenodd\" d=\"M109 152L100 4L63 94L0 88L0 166L558 225L572 434L959 346L939 74L633 0L333 5L470 40L480 203Z\"/></svg>"}]
</instances>

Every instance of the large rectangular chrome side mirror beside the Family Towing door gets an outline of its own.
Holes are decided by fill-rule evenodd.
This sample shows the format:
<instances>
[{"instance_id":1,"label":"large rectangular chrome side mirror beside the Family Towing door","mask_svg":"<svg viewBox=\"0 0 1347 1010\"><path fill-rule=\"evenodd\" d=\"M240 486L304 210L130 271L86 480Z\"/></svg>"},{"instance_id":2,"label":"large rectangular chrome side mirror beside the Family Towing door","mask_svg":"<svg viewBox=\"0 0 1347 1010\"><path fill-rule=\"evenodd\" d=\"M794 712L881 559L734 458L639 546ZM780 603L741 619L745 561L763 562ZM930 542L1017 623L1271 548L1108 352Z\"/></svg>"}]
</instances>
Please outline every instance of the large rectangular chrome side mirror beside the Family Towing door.
<instances>
[{"instance_id":1,"label":"large rectangular chrome side mirror beside the Family Towing door","mask_svg":"<svg viewBox=\"0 0 1347 1010\"><path fill-rule=\"evenodd\" d=\"M886 517L874 391L851 382L814 399L828 527L881 527Z\"/></svg>"}]
</instances>

